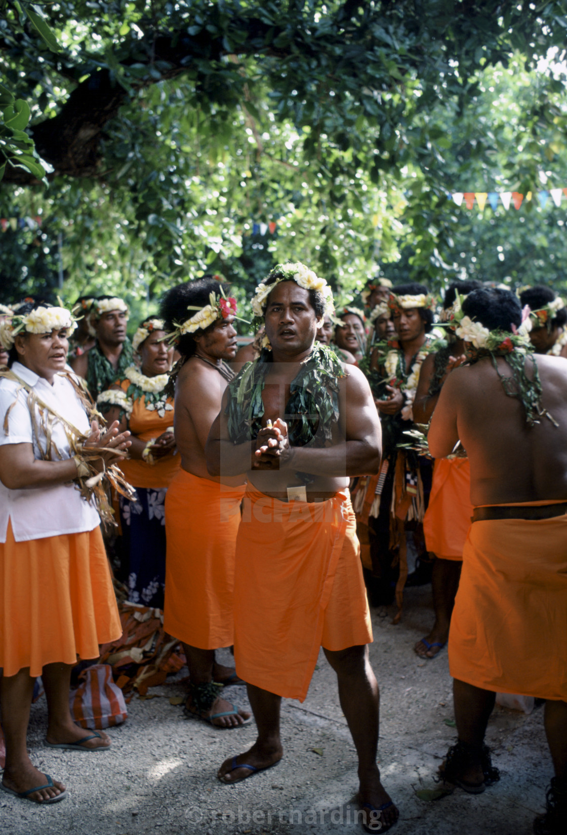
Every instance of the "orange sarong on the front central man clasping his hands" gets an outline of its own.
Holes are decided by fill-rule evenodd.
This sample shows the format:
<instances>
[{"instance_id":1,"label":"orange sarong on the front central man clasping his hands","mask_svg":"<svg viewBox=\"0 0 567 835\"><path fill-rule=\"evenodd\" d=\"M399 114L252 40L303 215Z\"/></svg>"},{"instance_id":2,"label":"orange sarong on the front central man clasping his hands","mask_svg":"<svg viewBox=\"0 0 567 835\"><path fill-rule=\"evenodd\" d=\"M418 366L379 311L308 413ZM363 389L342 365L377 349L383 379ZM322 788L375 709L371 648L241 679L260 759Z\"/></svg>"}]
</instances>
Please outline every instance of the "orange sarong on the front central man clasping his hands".
<instances>
[{"instance_id":1,"label":"orange sarong on the front central man clasping his hands","mask_svg":"<svg viewBox=\"0 0 567 835\"><path fill-rule=\"evenodd\" d=\"M248 485L236 543L238 676L304 701L321 645L372 641L359 554L348 490L288 503Z\"/></svg>"}]
</instances>

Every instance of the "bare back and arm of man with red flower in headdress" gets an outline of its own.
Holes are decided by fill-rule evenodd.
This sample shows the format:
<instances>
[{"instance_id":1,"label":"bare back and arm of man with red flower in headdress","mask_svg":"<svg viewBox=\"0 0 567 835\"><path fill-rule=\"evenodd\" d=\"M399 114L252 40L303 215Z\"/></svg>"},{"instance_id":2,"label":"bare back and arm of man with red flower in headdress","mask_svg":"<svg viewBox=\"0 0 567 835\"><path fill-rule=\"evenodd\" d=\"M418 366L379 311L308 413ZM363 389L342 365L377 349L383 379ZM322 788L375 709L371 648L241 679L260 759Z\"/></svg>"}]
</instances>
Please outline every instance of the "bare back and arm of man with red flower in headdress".
<instances>
[{"instance_id":1,"label":"bare back and arm of man with red flower in headdress","mask_svg":"<svg viewBox=\"0 0 567 835\"><path fill-rule=\"evenodd\" d=\"M243 477L210 475L204 453L208 431L220 412L227 385L216 368L197 356L190 357L178 373L173 428L184 470L199 478L234 485L242 484Z\"/></svg>"}]
</instances>

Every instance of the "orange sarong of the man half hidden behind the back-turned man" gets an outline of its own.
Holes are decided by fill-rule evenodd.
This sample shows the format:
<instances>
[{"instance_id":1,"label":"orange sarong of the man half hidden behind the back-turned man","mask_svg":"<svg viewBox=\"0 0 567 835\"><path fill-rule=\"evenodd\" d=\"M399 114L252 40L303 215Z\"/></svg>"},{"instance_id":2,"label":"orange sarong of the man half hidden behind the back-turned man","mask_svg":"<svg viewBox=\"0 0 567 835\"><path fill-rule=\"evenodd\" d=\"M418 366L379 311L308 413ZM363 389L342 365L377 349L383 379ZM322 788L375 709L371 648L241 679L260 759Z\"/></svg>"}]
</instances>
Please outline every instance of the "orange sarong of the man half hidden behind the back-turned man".
<instances>
[{"instance_id":1,"label":"orange sarong of the man half hidden behind the back-turned man","mask_svg":"<svg viewBox=\"0 0 567 835\"><path fill-rule=\"evenodd\" d=\"M463 559L472 515L469 458L437 458L424 516L425 547L441 559Z\"/></svg>"}]
</instances>

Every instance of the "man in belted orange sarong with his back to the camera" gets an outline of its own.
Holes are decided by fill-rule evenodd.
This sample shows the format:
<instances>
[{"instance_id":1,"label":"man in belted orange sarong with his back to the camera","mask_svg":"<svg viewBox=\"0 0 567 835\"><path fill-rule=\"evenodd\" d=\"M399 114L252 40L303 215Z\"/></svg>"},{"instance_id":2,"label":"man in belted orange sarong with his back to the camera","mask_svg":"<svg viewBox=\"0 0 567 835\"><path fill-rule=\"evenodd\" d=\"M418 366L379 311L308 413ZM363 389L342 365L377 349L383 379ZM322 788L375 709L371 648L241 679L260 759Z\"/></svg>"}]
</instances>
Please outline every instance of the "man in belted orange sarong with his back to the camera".
<instances>
[{"instance_id":1,"label":"man in belted orange sarong with his back to the camera","mask_svg":"<svg viewBox=\"0 0 567 835\"><path fill-rule=\"evenodd\" d=\"M458 440L467 450L474 504L449 632L459 741L441 773L484 791L499 779L484 746L496 692L544 698L554 777L534 832L559 835L567 820L567 361L534 354L509 291L473 291L458 317L470 365L447 378L429 430L434 456Z\"/></svg>"}]
</instances>

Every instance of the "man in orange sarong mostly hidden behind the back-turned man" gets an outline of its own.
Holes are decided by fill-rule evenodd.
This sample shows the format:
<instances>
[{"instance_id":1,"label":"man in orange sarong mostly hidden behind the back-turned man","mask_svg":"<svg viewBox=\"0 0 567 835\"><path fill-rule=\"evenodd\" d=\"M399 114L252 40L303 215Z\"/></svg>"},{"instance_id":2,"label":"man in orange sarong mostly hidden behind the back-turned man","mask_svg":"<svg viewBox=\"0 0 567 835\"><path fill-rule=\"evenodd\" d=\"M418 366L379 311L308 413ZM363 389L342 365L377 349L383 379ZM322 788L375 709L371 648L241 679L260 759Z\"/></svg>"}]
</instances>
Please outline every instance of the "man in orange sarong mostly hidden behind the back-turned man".
<instances>
[{"instance_id":1,"label":"man in orange sarong mostly hidden behind the back-turned man","mask_svg":"<svg viewBox=\"0 0 567 835\"><path fill-rule=\"evenodd\" d=\"M460 304L480 281L454 281L445 291L441 321L446 322L448 345L425 357L415 392L414 419L429 423L439 392L449 372L464 362L464 342L454 336L455 303ZM459 292L460 301L457 301ZM424 515L425 548L434 554L431 590L435 621L428 635L414 646L421 658L435 658L449 637L454 598L459 588L464 542L470 527L470 464L467 458L439 458L434 463L429 504Z\"/></svg>"}]
</instances>

